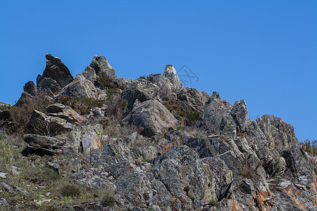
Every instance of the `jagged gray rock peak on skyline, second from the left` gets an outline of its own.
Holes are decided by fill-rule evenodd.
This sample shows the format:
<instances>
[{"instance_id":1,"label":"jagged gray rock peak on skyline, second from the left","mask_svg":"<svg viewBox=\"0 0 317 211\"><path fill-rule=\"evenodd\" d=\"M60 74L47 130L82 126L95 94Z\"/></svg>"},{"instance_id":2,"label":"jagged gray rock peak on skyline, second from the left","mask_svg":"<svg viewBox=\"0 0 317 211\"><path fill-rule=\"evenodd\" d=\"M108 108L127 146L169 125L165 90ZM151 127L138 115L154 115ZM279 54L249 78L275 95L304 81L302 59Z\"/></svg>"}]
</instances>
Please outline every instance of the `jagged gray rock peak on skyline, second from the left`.
<instances>
[{"instance_id":1,"label":"jagged gray rock peak on skyline, second from the left","mask_svg":"<svg viewBox=\"0 0 317 211\"><path fill-rule=\"evenodd\" d=\"M104 58L104 56L97 56L95 55L92 59L92 63L89 65L92 69L94 69L94 72L96 74L99 74L99 72L106 72L106 76L109 79L116 79L116 70L114 70L111 65L108 63L108 60Z\"/></svg>"}]
</instances>

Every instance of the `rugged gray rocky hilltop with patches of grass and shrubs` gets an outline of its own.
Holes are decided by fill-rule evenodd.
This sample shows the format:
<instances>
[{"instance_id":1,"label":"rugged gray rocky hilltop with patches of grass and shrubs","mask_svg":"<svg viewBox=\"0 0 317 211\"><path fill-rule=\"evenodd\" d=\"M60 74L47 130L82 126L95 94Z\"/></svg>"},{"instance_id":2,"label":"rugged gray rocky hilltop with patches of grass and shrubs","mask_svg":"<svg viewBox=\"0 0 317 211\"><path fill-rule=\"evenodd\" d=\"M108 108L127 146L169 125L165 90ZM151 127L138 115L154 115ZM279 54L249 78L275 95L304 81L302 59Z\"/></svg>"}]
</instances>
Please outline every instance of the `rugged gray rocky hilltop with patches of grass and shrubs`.
<instances>
[{"instance_id":1,"label":"rugged gray rocky hilltop with patches of grass and shrubs","mask_svg":"<svg viewBox=\"0 0 317 211\"><path fill-rule=\"evenodd\" d=\"M173 65L133 80L94 56L74 79L48 53L0 125L3 209L317 210L316 157L292 125L248 120Z\"/></svg>"}]
</instances>

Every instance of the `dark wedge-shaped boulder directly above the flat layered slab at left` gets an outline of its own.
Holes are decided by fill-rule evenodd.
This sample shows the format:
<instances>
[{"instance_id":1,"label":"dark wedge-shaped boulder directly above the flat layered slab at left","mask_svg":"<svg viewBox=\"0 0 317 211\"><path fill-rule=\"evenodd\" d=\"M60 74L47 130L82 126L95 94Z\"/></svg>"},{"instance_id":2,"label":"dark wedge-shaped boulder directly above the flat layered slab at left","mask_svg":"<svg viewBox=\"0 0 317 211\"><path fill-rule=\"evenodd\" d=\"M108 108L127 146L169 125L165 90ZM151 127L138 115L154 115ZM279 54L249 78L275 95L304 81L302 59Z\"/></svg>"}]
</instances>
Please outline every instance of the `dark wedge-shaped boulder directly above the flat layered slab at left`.
<instances>
[{"instance_id":1,"label":"dark wedge-shaped boulder directly above the flat layered slab at left","mask_svg":"<svg viewBox=\"0 0 317 211\"><path fill-rule=\"evenodd\" d=\"M75 128L74 124L70 124L60 117L47 116L38 110L33 110L27 129L32 134L52 136L68 132Z\"/></svg>"}]
</instances>

